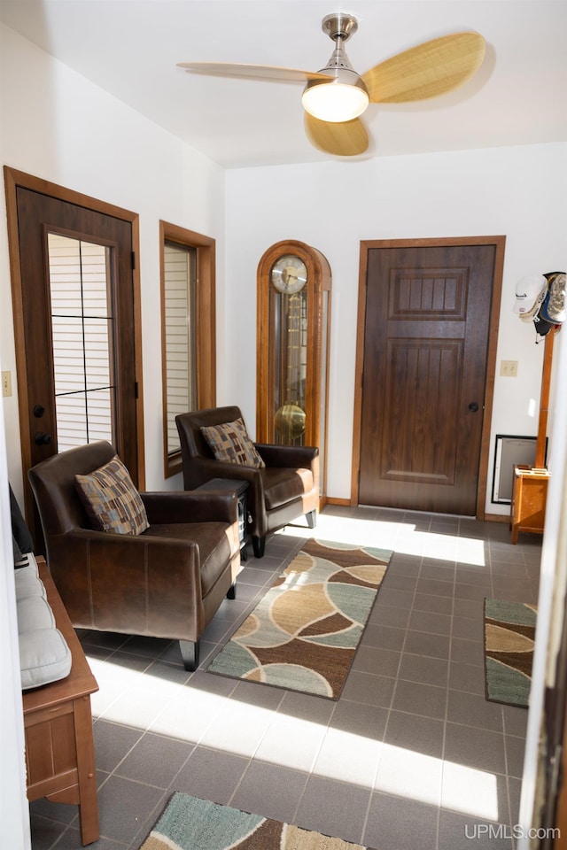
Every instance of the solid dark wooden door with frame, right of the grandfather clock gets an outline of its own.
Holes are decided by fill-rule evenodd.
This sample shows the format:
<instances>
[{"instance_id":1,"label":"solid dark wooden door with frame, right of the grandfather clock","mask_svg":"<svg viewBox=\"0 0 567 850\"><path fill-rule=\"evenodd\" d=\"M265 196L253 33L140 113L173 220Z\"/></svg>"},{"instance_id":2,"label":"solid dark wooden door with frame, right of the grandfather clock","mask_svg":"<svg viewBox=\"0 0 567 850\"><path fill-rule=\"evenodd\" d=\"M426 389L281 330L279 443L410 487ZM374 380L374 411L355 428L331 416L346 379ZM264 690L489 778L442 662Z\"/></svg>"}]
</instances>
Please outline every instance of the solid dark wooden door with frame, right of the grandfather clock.
<instances>
[{"instance_id":1,"label":"solid dark wooden door with frame, right of the grandfather clock","mask_svg":"<svg viewBox=\"0 0 567 850\"><path fill-rule=\"evenodd\" d=\"M477 514L503 237L484 242L364 243L358 504Z\"/></svg>"}]
</instances>

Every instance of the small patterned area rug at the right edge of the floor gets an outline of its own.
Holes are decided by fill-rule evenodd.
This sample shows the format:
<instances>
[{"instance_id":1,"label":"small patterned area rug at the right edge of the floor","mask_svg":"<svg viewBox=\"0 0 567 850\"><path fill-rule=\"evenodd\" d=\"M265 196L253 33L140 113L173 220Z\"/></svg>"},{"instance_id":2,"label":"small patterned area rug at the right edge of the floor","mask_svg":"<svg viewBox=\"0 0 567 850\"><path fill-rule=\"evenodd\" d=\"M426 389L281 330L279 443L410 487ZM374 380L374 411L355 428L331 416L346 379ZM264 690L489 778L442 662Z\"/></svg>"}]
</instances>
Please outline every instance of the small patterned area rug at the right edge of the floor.
<instances>
[{"instance_id":1,"label":"small patterned area rug at the right edge of the floor","mask_svg":"<svg viewBox=\"0 0 567 850\"><path fill-rule=\"evenodd\" d=\"M485 599L486 699L528 707L537 612L524 602Z\"/></svg>"}]
</instances>

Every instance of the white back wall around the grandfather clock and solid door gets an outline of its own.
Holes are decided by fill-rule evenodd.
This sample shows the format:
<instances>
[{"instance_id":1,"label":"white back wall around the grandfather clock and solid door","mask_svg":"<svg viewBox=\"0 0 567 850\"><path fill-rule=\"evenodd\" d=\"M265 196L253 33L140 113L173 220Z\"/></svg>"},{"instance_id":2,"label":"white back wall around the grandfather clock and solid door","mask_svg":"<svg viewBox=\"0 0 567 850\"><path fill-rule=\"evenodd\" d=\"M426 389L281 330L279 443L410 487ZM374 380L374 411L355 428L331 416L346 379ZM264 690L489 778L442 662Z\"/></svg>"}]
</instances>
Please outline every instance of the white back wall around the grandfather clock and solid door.
<instances>
[{"instance_id":1,"label":"white back wall around the grandfather clock and solid door","mask_svg":"<svg viewBox=\"0 0 567 850\"><path fill-rule=\"evenodd\" d=\"M318 248L333 273L328 495L348 498L361 240L505 235L498 363L519 366L516 379L496 376L491 453L497 433L535 436L543 345L512 305L524 274L565 268L566 166L567 145L540 144L229 171L226 297L241 318L224 340L222 395L240 403L253 428L258 261L280 239ZM509 506L490 504L492 456L489 467L486 509L508 514Z\"/></svg>"}]
</instances>

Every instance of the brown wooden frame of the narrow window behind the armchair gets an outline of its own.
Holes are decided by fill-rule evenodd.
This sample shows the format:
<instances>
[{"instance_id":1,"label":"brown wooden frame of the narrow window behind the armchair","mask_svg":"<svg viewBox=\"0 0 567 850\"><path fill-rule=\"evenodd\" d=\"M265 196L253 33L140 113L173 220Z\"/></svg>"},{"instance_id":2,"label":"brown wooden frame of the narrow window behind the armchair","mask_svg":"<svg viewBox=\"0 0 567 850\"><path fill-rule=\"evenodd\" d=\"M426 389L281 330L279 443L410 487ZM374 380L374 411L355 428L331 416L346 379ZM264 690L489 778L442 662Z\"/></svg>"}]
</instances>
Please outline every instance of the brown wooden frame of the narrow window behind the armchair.
<instances>
[{"instance_id":1,"label":"brown wooden frame of the narrow window behind the armchair","mask_svg":"<svg viewBox=\"0 0 567 850\"><path fill-rule=\"evenodd\" d=\"M197 378L197 407L216 406L216 243L210 236L180 228L159 220L159 279L161 303L161 380L163 412L164 476L170 478L183 471L181 449L167 452L167 327L165 244L197 252L197 290L195 298L195 352Z\"/></svg>"}]
</instances>

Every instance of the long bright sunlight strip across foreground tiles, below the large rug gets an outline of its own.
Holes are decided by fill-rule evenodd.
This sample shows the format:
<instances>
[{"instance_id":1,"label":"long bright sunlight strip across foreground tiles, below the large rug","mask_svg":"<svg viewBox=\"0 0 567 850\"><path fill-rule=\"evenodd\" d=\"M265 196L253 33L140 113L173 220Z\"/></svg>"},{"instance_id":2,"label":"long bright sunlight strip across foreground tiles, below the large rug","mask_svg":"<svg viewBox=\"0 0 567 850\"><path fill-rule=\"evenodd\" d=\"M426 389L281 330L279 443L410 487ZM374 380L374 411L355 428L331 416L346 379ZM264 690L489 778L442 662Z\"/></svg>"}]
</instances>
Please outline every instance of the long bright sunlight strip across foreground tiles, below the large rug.
<instances>
[{"instance_id":1,"label":"long bright sunlight strip across foreground tiles, below the large rug","mask_svg":"<svg viewBox=\"0 0 567 850\"><path fill-rule=\"evenodd\" d=\"M496 777L483 770L175 684L112 657L89 664L100 686L97 719L498 820Z\"/></svg>"}]
</instances>

